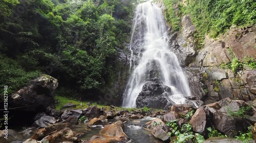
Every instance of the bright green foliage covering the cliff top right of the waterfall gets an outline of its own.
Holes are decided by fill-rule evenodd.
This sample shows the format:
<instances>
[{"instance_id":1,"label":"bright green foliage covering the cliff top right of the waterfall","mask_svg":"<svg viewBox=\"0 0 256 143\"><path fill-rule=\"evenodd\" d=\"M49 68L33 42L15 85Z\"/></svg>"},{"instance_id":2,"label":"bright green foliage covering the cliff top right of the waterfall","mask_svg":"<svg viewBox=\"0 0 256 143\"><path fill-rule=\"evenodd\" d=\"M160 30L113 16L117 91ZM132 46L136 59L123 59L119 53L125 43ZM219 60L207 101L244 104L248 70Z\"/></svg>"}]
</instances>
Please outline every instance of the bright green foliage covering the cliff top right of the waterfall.
<instances>
[{"instance_id":1,"label":"bright green foliage covering the cliff top right of the waterfall","mask_svg":"<svg viewBox=\"0 0 256 143\"><path fill-rule=\"evenodd\" d=\"M247 26L256 23L256 3L253 0L163 0L165 19L173 31L181 29L181 16L189 14L197 32L196 48L204 45L204 36L216 38L229 30L231 25Z\"/></svg>"}]
</instances>

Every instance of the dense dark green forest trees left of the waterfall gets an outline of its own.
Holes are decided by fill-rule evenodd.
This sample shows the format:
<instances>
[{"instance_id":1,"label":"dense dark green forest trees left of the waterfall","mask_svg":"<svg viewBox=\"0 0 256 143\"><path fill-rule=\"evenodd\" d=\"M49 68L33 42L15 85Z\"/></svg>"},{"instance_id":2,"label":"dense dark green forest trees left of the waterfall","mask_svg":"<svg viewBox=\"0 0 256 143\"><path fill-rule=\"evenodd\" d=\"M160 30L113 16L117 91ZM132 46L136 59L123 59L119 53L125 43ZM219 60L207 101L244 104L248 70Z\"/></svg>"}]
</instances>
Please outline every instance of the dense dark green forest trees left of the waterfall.
<instances>
[{"instance_id":1,"label":"dense dark green forest trees left of the waterfall","mask_svg":"<svg viewBox=\"0 0 256 143\"><path fill-rule=\"evenodd\" d=\"M40 71L73 93L111 86L122 67L117 49L129 40L130 2L1 1L1 59L14 64L1 64L8 78L0 83L17 90Z\"/></svg>"}]
</instances>

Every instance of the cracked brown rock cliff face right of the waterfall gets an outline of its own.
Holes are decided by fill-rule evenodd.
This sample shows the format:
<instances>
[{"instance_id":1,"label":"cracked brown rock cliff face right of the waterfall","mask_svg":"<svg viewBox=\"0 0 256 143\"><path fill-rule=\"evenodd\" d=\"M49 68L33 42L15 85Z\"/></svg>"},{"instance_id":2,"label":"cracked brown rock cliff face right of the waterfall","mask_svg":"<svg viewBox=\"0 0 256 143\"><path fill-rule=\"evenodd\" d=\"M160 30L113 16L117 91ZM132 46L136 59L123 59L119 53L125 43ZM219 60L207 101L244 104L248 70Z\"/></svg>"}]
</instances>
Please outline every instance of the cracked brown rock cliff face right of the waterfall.
<instances>
[{"instance_id":1,"label":"cracked brown rock cliff face right of the waterfall","mask_svg":"<svg viewBox=\"0 0 256 143\"><path fill-rule=\"evenodd\" d=\"M256 27L231 28L216 39L207 35L204 47L196 50L196 27L189 15L182 17L181 31L169 34L169 46L181 61L189 80L192 98L213 103L224 98L254 100L256 96L256 70L244 67L238 73L222 69L235 57L256 59Z\"/></svg>"}]
</instances>

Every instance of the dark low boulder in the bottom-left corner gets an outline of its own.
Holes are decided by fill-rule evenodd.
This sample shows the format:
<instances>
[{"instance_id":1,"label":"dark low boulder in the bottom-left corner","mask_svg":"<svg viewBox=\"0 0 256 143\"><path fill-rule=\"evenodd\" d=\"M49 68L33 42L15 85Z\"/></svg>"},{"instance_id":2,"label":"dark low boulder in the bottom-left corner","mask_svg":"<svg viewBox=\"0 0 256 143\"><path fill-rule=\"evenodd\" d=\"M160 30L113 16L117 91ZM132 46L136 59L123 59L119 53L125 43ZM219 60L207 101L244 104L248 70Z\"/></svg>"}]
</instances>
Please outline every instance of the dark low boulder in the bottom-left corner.
<instances>
[{"instance_id":1,"label":"dark low boulder in the bottom-left corner","mask_svg":"<svg viewBox=\"0 0 256 143\"><path fill-rule=\"evenodd\" d=\"M15 140L21 140L22 135L20 135L18 132L8 129L8 139L4 138L6 131L5 130L0 130L0 142L1 143L9 143Z\"/></svg>"}]
</instances>

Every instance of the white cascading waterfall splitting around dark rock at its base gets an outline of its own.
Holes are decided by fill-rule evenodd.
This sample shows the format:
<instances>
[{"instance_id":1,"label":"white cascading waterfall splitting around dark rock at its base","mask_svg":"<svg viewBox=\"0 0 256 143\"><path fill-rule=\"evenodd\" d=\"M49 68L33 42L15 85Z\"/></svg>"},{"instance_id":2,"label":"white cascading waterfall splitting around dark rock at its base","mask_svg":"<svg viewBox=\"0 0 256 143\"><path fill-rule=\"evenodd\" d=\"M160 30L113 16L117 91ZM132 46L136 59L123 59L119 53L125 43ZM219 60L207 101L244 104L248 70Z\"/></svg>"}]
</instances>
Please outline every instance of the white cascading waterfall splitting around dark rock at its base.
<instances>
[{"instance_id":1,"label":"white cascading waterfall splitting around dark rock at its base","mask_svg":"<svg viewBox=\"0 0 256 143\"><path fill-rule=\"evenodd\" d=\"M136 99L147 82L170 88L167 100L176 104L190 96L188 81L177 56L168 49L167 27L161 8L151 2L139 4L133 21L130 42L133 70L124 92L122 106L136 107Z\"/></svg>"}]
</instances>

